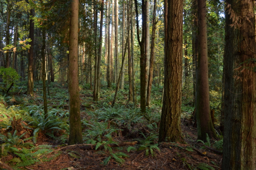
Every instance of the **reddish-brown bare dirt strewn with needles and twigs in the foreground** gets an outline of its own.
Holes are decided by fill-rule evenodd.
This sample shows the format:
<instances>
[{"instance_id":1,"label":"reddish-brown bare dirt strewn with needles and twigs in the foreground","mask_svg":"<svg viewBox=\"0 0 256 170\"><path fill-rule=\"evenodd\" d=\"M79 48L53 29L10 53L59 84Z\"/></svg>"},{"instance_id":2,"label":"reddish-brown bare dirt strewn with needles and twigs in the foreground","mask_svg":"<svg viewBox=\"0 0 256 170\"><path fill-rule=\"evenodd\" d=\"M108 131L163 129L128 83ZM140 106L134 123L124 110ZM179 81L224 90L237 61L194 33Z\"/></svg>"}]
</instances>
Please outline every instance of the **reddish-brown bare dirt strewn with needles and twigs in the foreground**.
<instances>
[{"instance_id":1,"label":"reddish-brown bare dirt strewn with needles and twigs in the foreground","mask_svg":"<svg viewBox=\"0 0 256 170\"><path fill-rule=\"evenodd\" d=\"M208 149L201 149L202 143L197 143L197 131L192 124L184 125L182 132L186 144L161 143L161 152L155 150L155 155L145 156L145 150L127 152L128 146L113 148L113 152L123 152L129 155L120 164L110 159L107 165L102 162L109 157L108 152L82 150L79 146L60 150L60 155L50 162L37 163L26 167L29 170L200 170L200 165L208 164L215 170L221 169L222 155ZM47 139L41 139L40 144L49 144ZM57 149L54 149L57 150ZM79 157L72 157L70 151ZM47 155L50 157L50 155Z\"/></svg>"}]
</instances>

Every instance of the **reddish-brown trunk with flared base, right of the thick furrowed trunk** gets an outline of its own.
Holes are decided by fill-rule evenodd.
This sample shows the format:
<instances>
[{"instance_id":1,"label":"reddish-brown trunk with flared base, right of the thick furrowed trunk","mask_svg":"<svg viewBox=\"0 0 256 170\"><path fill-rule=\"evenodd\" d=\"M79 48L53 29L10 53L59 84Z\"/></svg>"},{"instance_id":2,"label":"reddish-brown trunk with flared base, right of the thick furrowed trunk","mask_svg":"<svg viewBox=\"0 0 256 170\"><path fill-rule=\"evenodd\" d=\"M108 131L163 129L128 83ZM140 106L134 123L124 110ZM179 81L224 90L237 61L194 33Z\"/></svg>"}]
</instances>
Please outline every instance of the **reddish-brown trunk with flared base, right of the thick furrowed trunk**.
<instances>
[{"instance_id":1,"label":"reddish-brown trunk with flared base, right of the thick furrowed trunk","mask_svg":"<svg viewBox=\"0 0 256 170\"><path fill-rule=\"evenodd\" d=\"M196 74L196 103L197 137L206 141L206 134L210 138L217 138L210 115L208 58L207 58L207 26L206 0L197 0L198 3L198 62Z\"/></svg>"}]
</instances>

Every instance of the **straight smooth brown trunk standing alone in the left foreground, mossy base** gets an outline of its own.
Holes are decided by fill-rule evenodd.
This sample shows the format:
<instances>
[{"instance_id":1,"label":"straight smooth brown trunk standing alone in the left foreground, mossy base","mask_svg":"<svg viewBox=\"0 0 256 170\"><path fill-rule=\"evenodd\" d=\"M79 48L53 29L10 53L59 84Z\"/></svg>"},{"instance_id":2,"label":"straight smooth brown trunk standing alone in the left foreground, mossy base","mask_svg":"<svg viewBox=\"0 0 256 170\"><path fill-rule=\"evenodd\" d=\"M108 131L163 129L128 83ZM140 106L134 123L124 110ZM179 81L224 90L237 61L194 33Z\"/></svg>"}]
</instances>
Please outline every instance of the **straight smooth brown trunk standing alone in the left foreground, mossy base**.
<instances>
[{"instance_id":1,"label":"straight smooth brown trunk standing alone in the left foreground, mossy base","mask_svg":"<svg viewBox=\"0 0 256 170\"><path fill-rule=\"evenodd\" d=\"M80 118L79 79L78 79L78 7L79 0L71 2L69 34L69 126L68 144L82 144L82 127Z\"/></svg>"}]
</instances>

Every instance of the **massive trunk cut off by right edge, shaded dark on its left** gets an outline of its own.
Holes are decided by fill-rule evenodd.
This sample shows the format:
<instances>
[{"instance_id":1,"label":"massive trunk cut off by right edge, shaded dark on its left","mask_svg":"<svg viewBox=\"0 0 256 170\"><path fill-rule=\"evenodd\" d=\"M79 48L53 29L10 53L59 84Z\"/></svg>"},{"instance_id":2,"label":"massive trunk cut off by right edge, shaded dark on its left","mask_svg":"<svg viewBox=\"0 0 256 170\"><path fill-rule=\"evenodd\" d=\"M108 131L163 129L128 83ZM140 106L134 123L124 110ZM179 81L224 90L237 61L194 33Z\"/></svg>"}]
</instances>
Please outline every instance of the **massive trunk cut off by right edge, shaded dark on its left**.
<instances>
[{"instance_id":1,"label":"massive trunk cut off by right edge, shaded dark on its left","mask_svg":"<svg viewBox=\"0 0 256 170\"><path fill-rule=\"evenodd\" d=\"M254 2L227 0L223 170L256 169Z\"/></svg>"}]
</instances>

